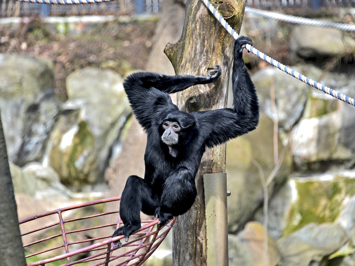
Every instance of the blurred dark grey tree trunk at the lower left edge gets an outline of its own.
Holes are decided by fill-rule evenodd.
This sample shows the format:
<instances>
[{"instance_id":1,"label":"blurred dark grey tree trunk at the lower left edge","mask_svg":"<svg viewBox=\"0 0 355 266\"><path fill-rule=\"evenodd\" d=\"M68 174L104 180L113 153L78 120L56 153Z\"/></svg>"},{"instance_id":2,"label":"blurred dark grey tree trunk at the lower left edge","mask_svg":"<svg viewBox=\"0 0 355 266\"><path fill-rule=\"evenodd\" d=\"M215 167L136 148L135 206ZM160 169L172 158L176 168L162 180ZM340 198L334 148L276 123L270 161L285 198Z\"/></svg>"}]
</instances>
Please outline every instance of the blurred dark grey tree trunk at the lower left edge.
<instances>
[{"instance_id":1,"label":"blurred dark grey tree trunk at the lower left edge","mask_svg":"<svg viewBox=\"0 0 355 266\"><path fill-rule=\"evenodd\" d=\"M18 225L17 206L13 193L1 113L0 169L0 264L3 266L24 266L26 260Z\"/></svg>"}]
</instances>

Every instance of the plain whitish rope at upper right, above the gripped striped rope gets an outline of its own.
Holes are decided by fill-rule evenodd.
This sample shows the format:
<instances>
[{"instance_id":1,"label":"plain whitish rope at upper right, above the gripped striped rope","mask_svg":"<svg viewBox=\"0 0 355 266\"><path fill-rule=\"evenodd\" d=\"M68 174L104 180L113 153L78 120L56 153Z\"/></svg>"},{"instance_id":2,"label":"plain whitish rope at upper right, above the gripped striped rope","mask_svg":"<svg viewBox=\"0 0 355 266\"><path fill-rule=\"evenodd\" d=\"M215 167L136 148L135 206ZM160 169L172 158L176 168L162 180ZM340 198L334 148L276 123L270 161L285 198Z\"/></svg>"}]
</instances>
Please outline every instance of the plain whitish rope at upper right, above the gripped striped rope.
<instances>
[{"instance_id":1,"label":"plain whitish rope at upper right, above the gripped striped rope","mask_svg":"<svg viewBox=\"0 0 355 266\"><path fill-rule=\"evenodd\" d=\"M302 25L316 26L316 27L323 27L323 28L333 28L333 29L339 29L341 31L355 32L355 25L352 24L312 20L311 18L284 15L277 12L260 10L251 7L245 7L245 11L256 14L258 16L262 16L264 18L273 18L275 20L294 23L294 24L302 24Z\"/></svg>"}]
</instances>

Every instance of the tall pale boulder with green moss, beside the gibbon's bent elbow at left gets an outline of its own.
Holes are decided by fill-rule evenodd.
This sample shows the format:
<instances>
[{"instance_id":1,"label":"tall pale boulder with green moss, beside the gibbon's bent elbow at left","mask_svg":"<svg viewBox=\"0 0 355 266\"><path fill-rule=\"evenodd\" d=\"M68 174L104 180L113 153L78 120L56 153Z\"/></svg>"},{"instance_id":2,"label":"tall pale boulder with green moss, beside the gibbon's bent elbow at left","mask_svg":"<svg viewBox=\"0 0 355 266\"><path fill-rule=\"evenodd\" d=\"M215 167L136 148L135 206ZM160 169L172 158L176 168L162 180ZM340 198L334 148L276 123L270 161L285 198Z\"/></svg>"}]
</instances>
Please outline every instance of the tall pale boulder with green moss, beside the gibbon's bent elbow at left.
<instances>
[{"instance_id":1,"label":"tall pale boulder with green moss, beside the gibbon's bent elbow at left","mask_svg":"<svg viewBox=\"0 0 355 266\"><path fill-rule=\"evenodd\" d=\"M103 181L110 154L131 110L121 76L87 67L67 78L68 101L51 134L48 164L64 184L80 190Z\"/></svg>"}]
</instances>

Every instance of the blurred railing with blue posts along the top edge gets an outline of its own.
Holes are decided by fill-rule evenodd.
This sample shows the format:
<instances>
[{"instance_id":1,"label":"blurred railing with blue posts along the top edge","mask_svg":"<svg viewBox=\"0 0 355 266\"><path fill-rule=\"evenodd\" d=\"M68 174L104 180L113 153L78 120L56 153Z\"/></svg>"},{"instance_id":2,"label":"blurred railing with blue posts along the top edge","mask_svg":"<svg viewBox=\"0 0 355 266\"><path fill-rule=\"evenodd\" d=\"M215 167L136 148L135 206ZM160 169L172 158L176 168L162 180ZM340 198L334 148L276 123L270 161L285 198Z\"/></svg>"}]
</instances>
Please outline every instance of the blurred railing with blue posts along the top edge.
<instances>
[{"instance_id":1,"label":"blurred railing with blue posts along the top edge","mask_svg":"<svg viewBox=\"0 0 355 266\"><path fill-rule=\"evenodd\" d=\"M163 0L119 0L88 5L47 5L0 0L0 17L157 14ZM256 8L355 7L354 0L246 0Z\"/></svg>"}]
</instances>

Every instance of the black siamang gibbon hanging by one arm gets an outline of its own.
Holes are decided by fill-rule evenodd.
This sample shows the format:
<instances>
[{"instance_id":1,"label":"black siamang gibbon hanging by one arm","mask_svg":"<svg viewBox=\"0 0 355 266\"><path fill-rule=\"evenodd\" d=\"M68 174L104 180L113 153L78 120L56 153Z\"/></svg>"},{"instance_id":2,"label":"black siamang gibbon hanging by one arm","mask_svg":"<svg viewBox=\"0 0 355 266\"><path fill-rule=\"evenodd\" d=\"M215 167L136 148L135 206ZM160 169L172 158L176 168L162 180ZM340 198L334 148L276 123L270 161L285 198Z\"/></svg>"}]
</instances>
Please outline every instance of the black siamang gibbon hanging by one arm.
<instances>
[{"instance_id":1,"label":"black siamang gibbon hanging by one arm","mask_svg":"<svg viewBox=\"0 0 355 266\"><path fill-rule=\"evenodd\" d=\"M141 227L140 211L159 218L158 227L184 214L195 201L195 175L206 147L222 144L256 128L259 106L242 51L251 39L234 44L233 108L187 113L179 111L169 93L214 82L216 65L208 76L166 76L138 72L128 76L124 89L133 113L147 133L144 179L130 176L122 192L120 216L124 226L112 235L129 236ZM115 244L121 246L117 241Z\"/></svg>"}]
</instances>

